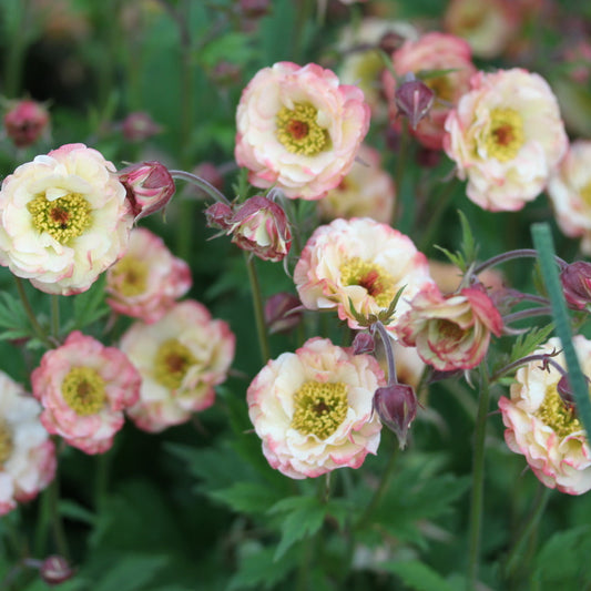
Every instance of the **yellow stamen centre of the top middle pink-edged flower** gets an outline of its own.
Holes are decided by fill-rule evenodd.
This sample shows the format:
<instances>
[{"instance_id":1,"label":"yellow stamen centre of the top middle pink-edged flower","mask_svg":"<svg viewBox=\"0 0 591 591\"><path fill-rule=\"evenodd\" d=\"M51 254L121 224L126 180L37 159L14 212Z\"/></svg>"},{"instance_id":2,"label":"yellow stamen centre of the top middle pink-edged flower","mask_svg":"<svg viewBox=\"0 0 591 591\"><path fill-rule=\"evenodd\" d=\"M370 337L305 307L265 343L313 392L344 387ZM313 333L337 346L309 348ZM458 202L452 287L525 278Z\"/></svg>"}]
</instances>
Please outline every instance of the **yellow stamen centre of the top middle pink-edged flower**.
<instances>
[{"instance_id":1,"label":"yellow stamen centre of the top middle pink-edged flower","mask_svg":"<svg viewBox=\"0 0 591 591\"><path fill-rule=\"evenodd\" d=\"M318 110L309 103L284 106L277 113L277 139L294 154L315 156L330 147L328 132L316 123Z\"/></svg>"}]
</instances>

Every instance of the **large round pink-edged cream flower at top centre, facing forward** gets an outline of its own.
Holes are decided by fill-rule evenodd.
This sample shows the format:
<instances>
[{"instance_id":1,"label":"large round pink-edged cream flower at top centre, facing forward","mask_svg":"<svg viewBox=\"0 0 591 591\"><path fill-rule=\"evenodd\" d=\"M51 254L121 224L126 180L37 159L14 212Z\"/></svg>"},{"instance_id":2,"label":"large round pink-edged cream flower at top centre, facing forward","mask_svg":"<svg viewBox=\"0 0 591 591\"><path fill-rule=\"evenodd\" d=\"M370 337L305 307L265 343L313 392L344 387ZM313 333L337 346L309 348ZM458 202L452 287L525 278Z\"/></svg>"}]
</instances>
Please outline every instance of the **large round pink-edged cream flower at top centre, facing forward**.
<instances>
[{"instance_id":1,"label":"large round pink-edged cream flower at top centre, facing forward","mask_svg":"<svg viewBox=\"0 0 591 591\"><path fill-rule=\"evenodd\" d=\"M357 88L315 63L278 62L244 89L236 112L235 157L258 187L317 200L340 183L369 128Z\"/></svg>"}]
</instances>

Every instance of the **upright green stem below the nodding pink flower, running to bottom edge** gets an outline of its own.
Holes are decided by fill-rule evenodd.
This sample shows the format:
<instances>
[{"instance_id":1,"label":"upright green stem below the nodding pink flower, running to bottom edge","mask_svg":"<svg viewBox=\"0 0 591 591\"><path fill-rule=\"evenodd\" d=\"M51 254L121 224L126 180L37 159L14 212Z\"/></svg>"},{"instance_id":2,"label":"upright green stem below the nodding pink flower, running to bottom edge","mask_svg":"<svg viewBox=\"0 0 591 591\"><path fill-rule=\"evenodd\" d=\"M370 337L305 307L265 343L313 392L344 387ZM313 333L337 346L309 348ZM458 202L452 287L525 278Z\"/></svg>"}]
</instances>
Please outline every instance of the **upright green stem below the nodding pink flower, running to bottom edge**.
<instances>
[{"instance_id":1,"label":"upright green stem below the nodding pink flower, running to bottom edge","mask_svg":"<svg viewBox=\"0 0 591 591\"><path fill-rule=\"evenodd\" d=\"M482 529L482 505L485 489L485 438L487 432L487 414L490 400L490 387L486 361L480 364L480 400L476 417L475 449L472 458L472 498L470 505L469 550L467 589L476 589L478 562L480 556L480 537Z\"/></svg>"}]
</instances>

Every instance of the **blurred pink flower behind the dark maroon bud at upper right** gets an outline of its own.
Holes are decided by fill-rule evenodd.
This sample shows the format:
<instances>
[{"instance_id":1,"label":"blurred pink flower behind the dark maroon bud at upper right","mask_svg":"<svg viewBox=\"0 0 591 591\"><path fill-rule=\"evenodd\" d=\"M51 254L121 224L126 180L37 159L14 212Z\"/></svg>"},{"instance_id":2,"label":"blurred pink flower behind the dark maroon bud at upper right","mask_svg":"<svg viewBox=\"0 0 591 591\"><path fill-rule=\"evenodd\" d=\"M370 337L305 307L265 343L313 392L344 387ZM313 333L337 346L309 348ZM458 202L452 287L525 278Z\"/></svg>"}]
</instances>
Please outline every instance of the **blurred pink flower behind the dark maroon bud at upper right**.
<instances>
[{"instance_id":1,"label":"blurred pink flower behind the dark maroon bud at upper right","mask_svg":"<svg viewBox=\"0 0 591 591\"><path fill-rule=\"evenodd\" d=\"M476 72L470 45L458 37L439 32L422 35L416 41L407 41L393 55L393 67L398 77L416 74L430 70L454 70L424 82L435 92L435 102L428 116L422 119L412 135L426 147L441 150L444 146L445 121L460 96L469 89L470 77ZM390 105L390 121L399 128L399 111L395 96L397 82L393 74L384 71L384 90Z\"/></svg>"}]
</instances>

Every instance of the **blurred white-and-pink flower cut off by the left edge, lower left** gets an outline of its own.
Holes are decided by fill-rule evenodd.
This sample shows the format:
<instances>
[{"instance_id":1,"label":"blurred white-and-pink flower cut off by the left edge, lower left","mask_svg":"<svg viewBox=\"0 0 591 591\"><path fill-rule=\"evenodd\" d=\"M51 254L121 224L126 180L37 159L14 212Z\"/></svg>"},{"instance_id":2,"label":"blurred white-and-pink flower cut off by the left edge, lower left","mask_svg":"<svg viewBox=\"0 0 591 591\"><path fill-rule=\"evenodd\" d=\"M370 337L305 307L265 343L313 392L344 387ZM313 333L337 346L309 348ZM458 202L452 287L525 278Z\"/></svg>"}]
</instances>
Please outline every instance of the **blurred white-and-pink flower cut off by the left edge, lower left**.
<instances>
[{"instance_id":1,"label":"blurred white-and-pink flower cut off by the left edge, lower left","mask_svg":"<svg viewBox=\"0 0 591 591\"><path fill-rule=\"evenodd\" d=\"M0 516L43 490L55 476L55 448L41 406L0 371Z\"/></svg>"}]
</instances>

